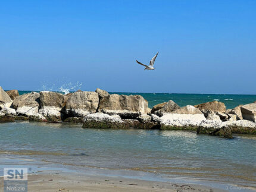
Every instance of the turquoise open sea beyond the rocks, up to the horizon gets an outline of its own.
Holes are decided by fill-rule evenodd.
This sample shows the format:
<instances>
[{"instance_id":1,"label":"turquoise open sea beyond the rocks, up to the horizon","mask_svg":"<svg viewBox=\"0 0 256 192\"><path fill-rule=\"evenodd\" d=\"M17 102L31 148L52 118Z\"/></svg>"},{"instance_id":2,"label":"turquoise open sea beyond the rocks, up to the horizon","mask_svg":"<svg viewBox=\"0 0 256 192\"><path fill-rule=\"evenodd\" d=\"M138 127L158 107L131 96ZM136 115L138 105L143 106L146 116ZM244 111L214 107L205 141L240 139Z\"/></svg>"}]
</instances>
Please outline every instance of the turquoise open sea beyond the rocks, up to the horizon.
<instances>
[{"instance_id":1,"label":"turquoise open sea beyond the rocks, up to the horizon","mask_svg":"<svg viewBox=\"0 0 256 192\"><path fill-rule=\"evenodd\" d=\"M19 91L20 95L30 91ZM179 93L117 93L120 95L142 95L148 100L148 107L152 108L158 103L173 100L180 106L197 105L199 103L218 100L225 103L227 109L233 109L238 105L252 103L256 95L224 95L224 94L179 94Z\"/></svg>"}]
</instances>

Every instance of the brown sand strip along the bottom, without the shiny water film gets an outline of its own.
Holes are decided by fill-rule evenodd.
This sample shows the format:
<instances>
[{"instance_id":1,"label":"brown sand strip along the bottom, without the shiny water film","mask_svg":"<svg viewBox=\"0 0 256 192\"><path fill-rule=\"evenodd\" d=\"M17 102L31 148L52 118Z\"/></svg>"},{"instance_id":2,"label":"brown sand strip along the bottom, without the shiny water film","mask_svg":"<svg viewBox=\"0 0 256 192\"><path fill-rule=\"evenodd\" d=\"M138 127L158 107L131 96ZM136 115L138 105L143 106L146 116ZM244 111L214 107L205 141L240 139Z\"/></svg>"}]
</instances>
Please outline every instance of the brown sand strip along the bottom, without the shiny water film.
<instances>
[{"instance_id":1,"label":"brown sand strip along the bottom, without the shiny water film","mask_svg":"<svg viewBox=\"0 0 256 192\"><path fill-rule=\"evenodd\" d=\"M0 181L3 189L3 181ZM223 191L204 185L79 175L74 172L29 174L29 191Z\"/></svg>"}]
</instances>

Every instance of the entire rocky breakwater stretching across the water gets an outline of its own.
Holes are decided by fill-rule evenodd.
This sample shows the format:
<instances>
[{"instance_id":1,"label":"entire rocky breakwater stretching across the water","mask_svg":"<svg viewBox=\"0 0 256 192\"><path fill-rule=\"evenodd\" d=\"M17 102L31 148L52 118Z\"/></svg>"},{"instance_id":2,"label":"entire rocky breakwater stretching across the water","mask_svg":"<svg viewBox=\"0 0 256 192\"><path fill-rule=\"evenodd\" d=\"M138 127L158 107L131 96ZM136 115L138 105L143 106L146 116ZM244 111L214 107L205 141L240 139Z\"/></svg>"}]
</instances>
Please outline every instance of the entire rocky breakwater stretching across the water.
<instances>
[{"instance_id":1,"label":"entire rocky breakwater stretching across the water","mask_svg":"<svg viewBox=\"0 0 256 192\"><path fill-rule=\"evenodd\" d=\"M142 128L192 130L232 138L233 133L256 134L256 103L226 109L213 101L180 107L173 100L151 110L140 95L117 95L104 90L31 92L14 100L0 87L0 122L30 120L40 122L82 122L83 128Z\"/></svg>"}]
</instances>

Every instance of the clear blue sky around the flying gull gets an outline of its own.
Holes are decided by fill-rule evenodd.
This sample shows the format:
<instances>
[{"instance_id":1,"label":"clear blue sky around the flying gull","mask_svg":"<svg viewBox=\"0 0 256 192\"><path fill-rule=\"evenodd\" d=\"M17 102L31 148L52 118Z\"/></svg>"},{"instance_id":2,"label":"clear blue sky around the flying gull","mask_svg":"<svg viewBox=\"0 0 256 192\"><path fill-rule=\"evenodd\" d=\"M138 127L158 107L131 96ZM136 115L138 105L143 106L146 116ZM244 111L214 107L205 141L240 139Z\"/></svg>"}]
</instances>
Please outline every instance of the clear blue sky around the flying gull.
<instances>
[{"instance_id":1,"label":"clear blue sky around the flying gull","mask_svg":"<svg viewBox=\"0 0 256 192\"><path fill-rule=\"evenodd\" d=\"M255 18L246 0L1 1L0 86L256 95Z\"/></svg>"}]
</instances>

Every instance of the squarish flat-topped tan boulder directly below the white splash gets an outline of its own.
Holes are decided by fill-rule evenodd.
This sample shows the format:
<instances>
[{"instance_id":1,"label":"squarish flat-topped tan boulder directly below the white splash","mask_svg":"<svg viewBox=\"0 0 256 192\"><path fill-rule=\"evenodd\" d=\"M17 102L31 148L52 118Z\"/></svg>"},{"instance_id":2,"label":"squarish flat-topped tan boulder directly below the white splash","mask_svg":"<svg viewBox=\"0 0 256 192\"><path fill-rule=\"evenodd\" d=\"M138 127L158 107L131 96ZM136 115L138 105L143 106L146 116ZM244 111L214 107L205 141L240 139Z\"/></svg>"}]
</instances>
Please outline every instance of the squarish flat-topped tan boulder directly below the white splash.
<instances>
[{"instance_id":1,"label":"squarish flat-topped tan boulder directly below the white splash","mask_svg":"<svg viewBox=\"0 0 256 192\"><path fill-rule=\"evenodd\" d=\"M42 109L61 111L67 102L67 96L56 92L40 92L40 106Z\"/></svg>"}]
</instances>

